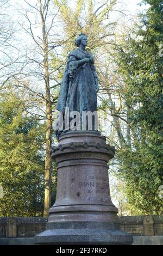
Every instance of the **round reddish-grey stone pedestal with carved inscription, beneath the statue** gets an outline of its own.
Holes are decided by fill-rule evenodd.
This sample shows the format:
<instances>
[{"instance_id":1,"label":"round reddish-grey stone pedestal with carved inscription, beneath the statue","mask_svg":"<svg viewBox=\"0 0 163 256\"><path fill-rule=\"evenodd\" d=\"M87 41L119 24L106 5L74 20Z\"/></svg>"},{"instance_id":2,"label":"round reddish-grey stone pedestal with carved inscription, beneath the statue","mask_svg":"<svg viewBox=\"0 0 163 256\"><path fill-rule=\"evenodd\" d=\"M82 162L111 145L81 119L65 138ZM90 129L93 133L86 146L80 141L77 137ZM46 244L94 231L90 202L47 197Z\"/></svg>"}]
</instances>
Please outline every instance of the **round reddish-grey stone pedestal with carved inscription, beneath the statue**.
<instances>
[{"instance_id":1,"label":"round reddish-grey stone pedestal with carved inscription, beneath the statue","mask_svg":"<svg viewBox=\"0 0 163 256\"><path fill-rule=\"evenodd\" d=\"M95 131L60 136L52 158L58 164L55 204L46 231L35 243L52 245L130 245L133 237L120 229L118 209L109 190L108 161L115 149Z\"/></svg>"}]
</instances>

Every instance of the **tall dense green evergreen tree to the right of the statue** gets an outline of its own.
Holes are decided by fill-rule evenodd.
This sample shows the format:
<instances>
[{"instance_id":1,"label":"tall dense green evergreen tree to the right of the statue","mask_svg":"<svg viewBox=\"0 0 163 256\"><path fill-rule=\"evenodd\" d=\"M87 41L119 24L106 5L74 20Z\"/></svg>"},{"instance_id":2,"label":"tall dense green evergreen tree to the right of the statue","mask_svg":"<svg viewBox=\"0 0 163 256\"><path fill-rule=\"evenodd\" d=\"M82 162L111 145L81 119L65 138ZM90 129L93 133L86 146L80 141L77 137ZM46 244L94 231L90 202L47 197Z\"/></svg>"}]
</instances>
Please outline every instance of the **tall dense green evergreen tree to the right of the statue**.
<instances>
[{"instance_id":1,"label":"tall dense green evergreen tree to the right of the statue","mask_svg":"<svg viewBox=\"0 0 163 256\"><path fill-rule=\"evenodd\" d=\"M133 139L131 147L124 145L118 152L117 160L133 214L162 214L163 58L159 46L163 42L163 1L143 2L150 7L140 17L141 26L118 49Z\"/></svg>"}]
</instances>

